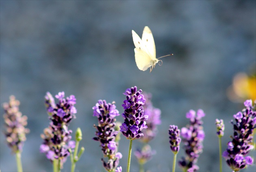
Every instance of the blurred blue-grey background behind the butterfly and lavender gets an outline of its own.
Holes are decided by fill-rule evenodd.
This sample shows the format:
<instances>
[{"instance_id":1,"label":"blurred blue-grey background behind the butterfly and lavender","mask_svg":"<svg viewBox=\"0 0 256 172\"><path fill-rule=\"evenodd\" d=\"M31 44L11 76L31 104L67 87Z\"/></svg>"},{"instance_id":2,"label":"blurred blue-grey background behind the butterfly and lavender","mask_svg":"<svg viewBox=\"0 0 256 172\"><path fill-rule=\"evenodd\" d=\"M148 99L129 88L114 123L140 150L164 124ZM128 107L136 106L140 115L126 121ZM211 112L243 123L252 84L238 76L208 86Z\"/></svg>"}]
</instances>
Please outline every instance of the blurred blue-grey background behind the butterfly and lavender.
<instances>
[{"instance_id":1,"label":"blurred blue-grey background behind the butterfly and lavender","mask_svg":"<svg viewBox=\"0 0 256 172\"><path fill-rule=\"evenodd\" d=\"M152 30L156 56L174 54L163 58L163 65L156 65L151 73L140 71L134 58L132 30L141 36L144 26ZM232 115L243 108L243 103L228 99L227 88L236 73L256 70L256 1L1 0L0 41L0 104L15 95L20 111L28 116L24 171L52 170L50 161L39 153L40 134L49 123L44 106L47 91L76 96L77 118L69 128L82 129L80 146L85 147L76 171L104 171L99 143L91 139L97 123L92 107L98 99L106 99L115 101L122 113L122 93L132 86L151 92L153 105L162 111L158 135L150 142L157 153L145 170L171 170L169 125L184 127L189 122L186 112L202 108L206 137L199 171L218 171L215 119L222 118L226 125L224 150L232 134ZM0 120L0 169L16 171ZM123 169L128 145L121 137ZM135 140L133 151L138 146L141 143ZM182 155L181 149L178 159ZM69 169L68 160L63 171ZM132 156L131 171L138 170ZM252 166L242 171L254 170ZM223 171L231 171L224 161Z\"/></svg>"}]
</instances>

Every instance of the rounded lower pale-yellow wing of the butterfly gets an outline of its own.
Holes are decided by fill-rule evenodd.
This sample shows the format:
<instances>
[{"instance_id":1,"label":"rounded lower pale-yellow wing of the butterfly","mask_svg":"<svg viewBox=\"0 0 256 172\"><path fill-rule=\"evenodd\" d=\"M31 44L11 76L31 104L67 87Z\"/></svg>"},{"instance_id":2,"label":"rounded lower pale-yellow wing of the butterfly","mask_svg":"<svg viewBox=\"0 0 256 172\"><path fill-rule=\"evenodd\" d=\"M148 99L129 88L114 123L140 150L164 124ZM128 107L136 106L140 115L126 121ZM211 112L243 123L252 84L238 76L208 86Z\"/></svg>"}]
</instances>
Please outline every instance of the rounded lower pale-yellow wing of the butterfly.
<instances>
[{"instance_id":1,"label":"rounded lower pale-yellow wing of the butterfly","mask_svg":"<svg viewBox=\"0 0 256 172\"><path fill-rule=\"evenodd\" d=\"M139 48L135 48L134 52L135 62L139 70L145 71L152 66L152 59L147 53L145 53L145 51Z\"/></svg>"}]
</instances>

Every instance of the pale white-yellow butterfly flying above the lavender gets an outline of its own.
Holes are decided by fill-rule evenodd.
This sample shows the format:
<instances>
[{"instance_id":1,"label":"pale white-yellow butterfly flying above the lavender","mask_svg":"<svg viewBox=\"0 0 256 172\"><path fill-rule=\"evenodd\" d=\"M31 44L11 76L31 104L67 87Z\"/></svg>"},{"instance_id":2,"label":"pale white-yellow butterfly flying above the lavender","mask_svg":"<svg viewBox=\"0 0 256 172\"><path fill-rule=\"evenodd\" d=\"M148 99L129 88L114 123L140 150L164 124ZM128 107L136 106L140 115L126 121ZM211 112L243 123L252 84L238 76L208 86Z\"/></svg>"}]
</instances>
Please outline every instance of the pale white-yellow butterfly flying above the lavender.
<instances>
[{"instance_id":1,"label":"pale white-yellow butterfly flying above the lavender","mask_svg":"<svg viewBox=\"0 0 256 172\"><path fill-rule=\"evenodd\" d=\"M160 66L163 64L162 60L158 60L159 58L173 55L168 54L166 56L156 58L156 46L152 32L148 26L145 26L141 38L134 30L132 30L132 39L135 45L135 62L141 71L146 71L150 68L151 72L156 66L156 63Z\"/></svg>"}]
</instances>

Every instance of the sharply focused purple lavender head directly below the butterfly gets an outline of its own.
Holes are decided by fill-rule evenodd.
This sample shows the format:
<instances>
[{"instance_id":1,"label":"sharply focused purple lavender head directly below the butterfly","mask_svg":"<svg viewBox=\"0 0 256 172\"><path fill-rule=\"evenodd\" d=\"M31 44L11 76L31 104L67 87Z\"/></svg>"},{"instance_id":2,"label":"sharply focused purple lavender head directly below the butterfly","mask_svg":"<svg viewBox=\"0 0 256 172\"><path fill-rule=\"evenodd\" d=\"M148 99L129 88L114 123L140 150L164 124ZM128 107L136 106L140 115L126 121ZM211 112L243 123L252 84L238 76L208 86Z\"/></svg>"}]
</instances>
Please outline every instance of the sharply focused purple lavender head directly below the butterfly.
<instances>
[{"instance_id":1,"label":"sharply focused purple lavender head directly below the butterfly","mask_svg":"<svg viewBox=\"0 0 256 172\"><path fill-rule=\"evenodd\" d=\"M126 100L124 100L124 123L120 126L120 131L122 134L130 140L139 139L143 137L141 133L142 129L147 128L146 121L148 115L144 115L144 110L142 105L145 103L144 96L141 94L142 90L137 91L137 87L126 89L124 95L126 95Z\"/></svg>"}]
</instances>

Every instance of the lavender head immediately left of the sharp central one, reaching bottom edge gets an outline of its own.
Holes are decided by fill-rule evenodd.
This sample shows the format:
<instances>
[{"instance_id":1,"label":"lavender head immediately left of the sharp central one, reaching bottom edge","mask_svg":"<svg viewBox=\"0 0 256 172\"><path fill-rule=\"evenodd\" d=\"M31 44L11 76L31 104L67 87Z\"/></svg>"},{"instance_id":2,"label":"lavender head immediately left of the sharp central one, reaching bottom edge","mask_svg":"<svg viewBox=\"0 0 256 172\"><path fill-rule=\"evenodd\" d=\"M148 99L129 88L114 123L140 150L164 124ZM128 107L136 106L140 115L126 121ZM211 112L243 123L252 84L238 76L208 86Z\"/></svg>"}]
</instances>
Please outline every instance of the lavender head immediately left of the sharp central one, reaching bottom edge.
<instances>
[{"instance_id":1,"label":"lavender head immediately left of the sharp central one, reaching bottom edge","mask_svg":"<svg viewBox=\"0 0 256 172\"><path fill-rule=\"evenodd\" d=\"M104 157L108 157L108 161L102 158L103 166L108 172L115 170L122 158L121 153L117 152L118 143L115 141L118 131L115 131L116 116L119 116L116 106L112 103L106 103L105 100L99 100L93 107L93 116L98 118L98 125L93 125L97 131L97 137L93 140L99 141ZM117 168L121 170L121 168Z\"/></svg>"}]
</instances>

